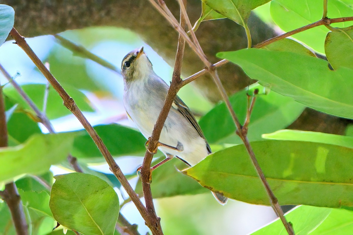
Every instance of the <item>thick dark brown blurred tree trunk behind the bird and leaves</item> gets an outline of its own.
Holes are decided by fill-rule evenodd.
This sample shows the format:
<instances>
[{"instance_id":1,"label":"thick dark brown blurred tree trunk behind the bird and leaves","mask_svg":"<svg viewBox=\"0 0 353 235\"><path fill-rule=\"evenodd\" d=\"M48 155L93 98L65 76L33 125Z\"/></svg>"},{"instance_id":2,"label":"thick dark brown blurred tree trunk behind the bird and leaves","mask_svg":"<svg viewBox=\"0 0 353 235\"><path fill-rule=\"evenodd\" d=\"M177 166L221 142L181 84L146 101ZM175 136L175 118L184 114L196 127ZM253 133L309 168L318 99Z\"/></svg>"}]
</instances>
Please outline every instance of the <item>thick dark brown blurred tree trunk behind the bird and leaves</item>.
<instances>
[{"instance_id":1,"label":"thick dark brown blurred tree trunk behind the bird and leaves","mask_svg":"<svg viewBox=\"0 0 353 235\"><path fill-rule=\"evenodd\" d=\"M89 26L116 26L130 29L140 35L167 63L173 65L178 35L167 21L146 0L0 0L15 10L15 27L25 37L55 34L70 29ZM166 0L167 6L179 18L175 0ZM189 0L187 10L191 22L201 14L201 1ZM274 31L254 14L249 19L253 44L275 36ZM196 32L200 44L211 62L219 61L219 51L238 50L246 47L243 27L228 19L201 23ZM201 69L203 63L185 48L183 76ZM234 64L219 69L219 75L228 94L251 84L243 70ZM209 75L192 82L209 100L217 102L219 92ZM315 130L342 134L346 120L306 109L291 125L293 129Z\"/></svg>"}]
</instances>

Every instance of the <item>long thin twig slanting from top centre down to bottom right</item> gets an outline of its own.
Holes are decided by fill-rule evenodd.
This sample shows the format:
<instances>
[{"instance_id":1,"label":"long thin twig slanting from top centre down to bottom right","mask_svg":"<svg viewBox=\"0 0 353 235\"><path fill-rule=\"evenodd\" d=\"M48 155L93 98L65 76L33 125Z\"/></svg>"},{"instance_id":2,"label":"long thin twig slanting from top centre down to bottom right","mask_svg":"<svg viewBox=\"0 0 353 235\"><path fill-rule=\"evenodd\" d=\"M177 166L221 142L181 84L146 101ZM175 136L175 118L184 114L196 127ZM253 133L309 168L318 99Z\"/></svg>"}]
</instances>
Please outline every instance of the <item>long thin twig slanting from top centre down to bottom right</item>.
<instances>
[{"instance_id":1,"label":"long thin twig slanting from top centre down to bottom right","mask_svg":"<svg viewBox=\"0 0 353 235\"><path fill-rule=\"evenodd\" d=\"M149 0L152 5L154 5L158 11L162 12L162 8L160 6L158 6L153 0ZM166 6L165 6L166 7ZM164 8L165 8L164 7ZM164 10L165 11L165 10ZM184 17L186 18L187 15L185 14L185 12L182 11L182 13L184 14ZM192 45L192 42L190 40L187 40L189 39L189 37L185 36L185 31L183 30L183 28L180 26L180 25L174 25L174 20L173 19L170 19L171 17L168 17L168 14L163 14L163 16L166 17L166 19L169 21L170 24L172 24L174 26L174 28L179 32L180 36L183 36L184 39L186 40L186 42L190 45L190 47L196 52L196 54L200 57L200 56L203 56L201 51L197 51L197 47L195 47L195 45ZM189 19L185 19L186 21L188 21ZM200 57L202 61L207 61L207 58L206 57ZM257 171L257 174L259 175L259 178L262 180L262 183L268 193L268 196L269 196L269 199L270 199L270 203L274 209L274 211L276 212L276 214L281 218L281 221L283 222L283 225L285 226L288 234L292 235L294 234L294 230L293 230L293 227L291 224L289 224L287 221L286 221L286 218L284 217L284 214L283 214L283 211L278 203L278 200L277 198L274 196L274 193L271 191L271 188L269 187L269 184L266 180L266 178L264 177L264 174L262 172L262 169L261 167L259 166L257 160L256 160L256 157L255 157L255 153L253 152L251 146L250 146L250 143L249 141L247 140L247 137L246 137L246 132L243 132L242 131L242 126L239 122L239 119L237 117L237 115L235 114L232 106L231 106L231 103L229 101L229 98L227 96L227 93L221 83L221 80L217 74L217 70L212 68L211 67L211 63L209 61L207 62L204 62L205 63L205 66L207 66L208 70L210 71L210 74L213 76L214 78L214 81L219 89L219 91L221 92L221 95L222 95L222 98L223 100L225 101L226 103L226 106L232 116L232 119L234 121L234 124L235 126L237 127L237 133L239 135L239 137L241 138L241 140L243 140L245 146L246 146L246 149L249 153L249 156L250 156L250 159ZM169 90L170 91L170 90ZM167 101L166 101L167 102ZM169 107L170 108L170 107ZM157 122L158 123L158 122ZM156 125L157 125L156 123Z\"/></svg>"}]
</instances>

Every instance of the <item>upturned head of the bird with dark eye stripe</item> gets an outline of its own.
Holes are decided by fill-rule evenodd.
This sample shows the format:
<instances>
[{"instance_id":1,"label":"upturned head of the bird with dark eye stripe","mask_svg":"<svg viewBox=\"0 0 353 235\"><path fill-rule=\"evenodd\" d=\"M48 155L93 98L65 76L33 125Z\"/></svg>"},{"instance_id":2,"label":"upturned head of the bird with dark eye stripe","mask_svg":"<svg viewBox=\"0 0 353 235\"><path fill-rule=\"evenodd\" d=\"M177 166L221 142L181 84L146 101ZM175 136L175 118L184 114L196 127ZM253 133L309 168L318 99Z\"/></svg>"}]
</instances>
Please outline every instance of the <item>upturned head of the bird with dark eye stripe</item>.
<instances>
[{"instance_id":1,"label":"upturned head of the bird with dark eye stripe","mask_svg":"<svg viewBox=\"0 0 353 235\"><path fill-rule=\"evenodd\" d=\"M124 82L144 79L151 73L151 70L152 63L143 51L143 47L130 51L121 62L121 74Z\"/></svg>"}]
</instances>

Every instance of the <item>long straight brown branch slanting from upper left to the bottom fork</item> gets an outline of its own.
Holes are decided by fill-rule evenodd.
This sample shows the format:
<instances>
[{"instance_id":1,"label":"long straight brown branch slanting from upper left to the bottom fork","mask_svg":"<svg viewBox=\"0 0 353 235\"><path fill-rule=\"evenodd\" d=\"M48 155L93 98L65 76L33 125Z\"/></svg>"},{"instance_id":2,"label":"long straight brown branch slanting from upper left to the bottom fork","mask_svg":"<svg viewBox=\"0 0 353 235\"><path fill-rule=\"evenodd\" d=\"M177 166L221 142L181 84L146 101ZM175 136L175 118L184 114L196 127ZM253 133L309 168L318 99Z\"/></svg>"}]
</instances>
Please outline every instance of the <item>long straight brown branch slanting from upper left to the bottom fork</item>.
<instances>
[{"instance_id":1,"label":"long straight brown branch slanting from upper left to the bottom fork","mask_svg":"<svg viewBox=\"0 0 353 235\"><path fill-rule=\"evenodd\" d=\"M114 161L112 155L109 153L109 150L104 145L101 138L97 135L97 132L93 129L88 120L84 117L82 112L77 107L74 100L67 94L67 92L62 88L59 82L54 78L54 76L49 72L49 70L44 66L44 64L40 61L38 56L32 51L29 47L25 39L19 35L16 29L12 29L10 35L15 39L17 45L22 48L26 54L30 57L30 59L34 62L34 64L38 67L41 73L47 78L49 83L54 87L55 91L59 93L60 97L64 101L64 105L77 117L80 123L84 126L88 134L91 136L92 140L97 145L98 149L101 151L104 159L107 161L110 170L116 176L116 178L120 181L121 185L126 190L127 194L130 196L133 203L136 205L136 208L140 212L141 216L146 222L146 225L153 231L155 229L155 224L159 223L159 218L155 215L149 213L149 211L145 208L145 206L140 201L136 192L134 192L130 183L126 179L125 175L122 173L120 167Z\"/></svg>"}]
</instances>

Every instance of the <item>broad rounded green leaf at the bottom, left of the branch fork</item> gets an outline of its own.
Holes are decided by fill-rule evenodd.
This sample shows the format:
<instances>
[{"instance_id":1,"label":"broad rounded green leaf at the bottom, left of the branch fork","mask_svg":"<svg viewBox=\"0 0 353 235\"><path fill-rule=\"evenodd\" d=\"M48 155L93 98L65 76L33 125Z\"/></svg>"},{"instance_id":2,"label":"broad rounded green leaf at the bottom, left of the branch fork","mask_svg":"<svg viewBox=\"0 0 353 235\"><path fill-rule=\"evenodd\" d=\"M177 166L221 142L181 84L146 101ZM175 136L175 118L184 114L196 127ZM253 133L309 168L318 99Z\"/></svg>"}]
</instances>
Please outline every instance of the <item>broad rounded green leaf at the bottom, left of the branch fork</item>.
<instances>
[{"instance_id":1,"label":"broad rounded green leaf at the bottom, left of the branch fork","mask_svg":"<svg viewBox=\"0 0 353 235\"><path fill-rule=\"evenodd\" d=\"M84 173L54 178L49 205L56 221L85 235L114 234L120 206L111 186Z\"/></svg>"}]
</instances>

